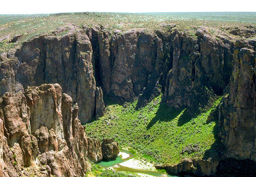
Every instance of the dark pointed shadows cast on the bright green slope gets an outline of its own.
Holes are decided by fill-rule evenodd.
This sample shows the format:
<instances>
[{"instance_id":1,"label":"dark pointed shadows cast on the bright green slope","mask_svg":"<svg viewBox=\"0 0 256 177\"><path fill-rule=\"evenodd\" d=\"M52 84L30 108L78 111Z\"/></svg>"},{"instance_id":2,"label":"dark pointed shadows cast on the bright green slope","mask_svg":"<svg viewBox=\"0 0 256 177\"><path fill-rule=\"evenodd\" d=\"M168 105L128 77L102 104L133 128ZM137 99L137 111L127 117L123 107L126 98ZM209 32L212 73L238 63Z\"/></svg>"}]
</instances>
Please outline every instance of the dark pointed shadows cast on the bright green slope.
<instances>
[{"instance_id":1,"label":"dark pointed shadows cast on the bright green slope","mask_svg":"<svg viewBox=\"0 0 256 177\"><path fill-rule=\"evenodd\" d=\"M188 115L186 108L176 109L174 107L168 107L164 102L160 102L156 116L149 122L147 129L150 129L158 121L168 122L176 118L178 115L180 115L178 119L178 126L182 126L192 119L192 117Z\"/></svg>"}]
</instances>

